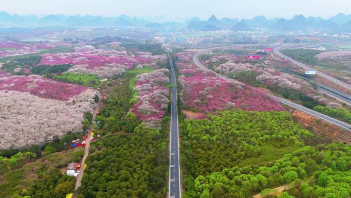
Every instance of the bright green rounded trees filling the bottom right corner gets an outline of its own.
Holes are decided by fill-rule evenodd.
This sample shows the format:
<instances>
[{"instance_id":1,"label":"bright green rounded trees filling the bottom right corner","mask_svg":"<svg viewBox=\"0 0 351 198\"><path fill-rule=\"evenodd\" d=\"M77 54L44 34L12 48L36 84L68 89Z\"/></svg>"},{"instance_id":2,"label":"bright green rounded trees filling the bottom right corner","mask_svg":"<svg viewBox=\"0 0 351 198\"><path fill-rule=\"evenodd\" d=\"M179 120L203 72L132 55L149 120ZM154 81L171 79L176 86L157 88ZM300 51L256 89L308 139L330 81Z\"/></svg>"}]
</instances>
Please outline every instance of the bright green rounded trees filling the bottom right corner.
<instances>
[{"instance_id":1,"label":"bright green rounded trees filling the bottom right corner","mask_svg":"<svg viewBox=\"0 0 351 198\"><path fill-rule=\"evenodd\" d=\"M351 147L342 143L306 146L269 163L268 166L224 168L187 181L187 197L265 197L269 188L288 185L279 197L349 197ZM293 195L293 196L289 196Z\"/></svg>"}]
</instances>

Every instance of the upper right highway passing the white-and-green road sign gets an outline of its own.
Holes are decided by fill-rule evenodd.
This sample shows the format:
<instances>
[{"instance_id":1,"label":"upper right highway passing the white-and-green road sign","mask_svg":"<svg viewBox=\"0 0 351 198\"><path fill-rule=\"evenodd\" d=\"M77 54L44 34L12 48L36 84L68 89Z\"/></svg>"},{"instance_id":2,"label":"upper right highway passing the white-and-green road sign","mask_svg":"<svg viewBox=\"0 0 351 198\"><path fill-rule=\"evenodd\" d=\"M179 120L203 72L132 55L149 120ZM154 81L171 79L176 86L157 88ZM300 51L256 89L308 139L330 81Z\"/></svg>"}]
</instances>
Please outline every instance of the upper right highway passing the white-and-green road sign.
<instances>
[{"instance_id":1,"label":"upper right highway passing the white-and-green road sign","mask_svg":"<svg viewBox=\"0 0 351 198\"><path fill-rule=\"evenodd\" d=\"M349 85L349 84L347 84L347 83L345 83L345 82L342 82L342 81L340 81L340 80L338 80L338 79L336 79L336 78L334 78L334 77L331 77L331 76L329 76L329 75L326 75L326 74L322 73L321 71L318 71L318 70L316 70L316 69L314 69L314 68L312 68L312 67L310 67L310 66L307 66L307 65L305 65L305 64L303 64L303 63L300 63L300 62L298 62L298 61L296 61L296 60L294 60L294 59L292 59L292 58L290 58L290 57L284 55L282 52L279 51L281 48L284 48L284 47L286 47L286 46L285 46L285 45L278 46L278 47L274 48L274 52L277 53L278 56L280 56L280 57L282 57L282 58L285 58L286 60L291 61L291 62L293 62L293 63L299 65L300 67L302 67L302 68L304 68L304 69L306 69L306 70L313 70L313 71L316 71L316 74L317 74L317 75L319 75L319 76L321 76L321 77L323 77L323 78L325 78L325 79L327 79L327 80L329 80L329 81L332 81L332 82L334 82L334 83L336 83L336 84L338 84L338 85L340 85L340 86L343 86L343 87L345 87L345 88L351 90L351 85Z\"/></svg>"}]
</instances>

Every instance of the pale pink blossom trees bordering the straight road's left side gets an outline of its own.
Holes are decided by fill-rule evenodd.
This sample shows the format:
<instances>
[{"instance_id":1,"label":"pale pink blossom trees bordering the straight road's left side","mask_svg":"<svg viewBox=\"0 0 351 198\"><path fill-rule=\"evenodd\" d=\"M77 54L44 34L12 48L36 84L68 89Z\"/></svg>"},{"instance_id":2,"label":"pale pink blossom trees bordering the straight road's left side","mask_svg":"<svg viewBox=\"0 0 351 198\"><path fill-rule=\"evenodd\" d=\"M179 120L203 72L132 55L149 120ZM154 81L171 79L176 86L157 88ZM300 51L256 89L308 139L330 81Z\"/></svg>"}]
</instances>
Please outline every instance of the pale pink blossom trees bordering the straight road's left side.
<instances>
[{"instance_id":1,"label":"pale pink blossom trees bordering the straight road's left side","mask_svg":"<svg viewBox=\"0 0 351 198\"><path fill-rule=\"evenodd\" d=\"M134 91L139 96L131 111L149 127L159 128L165 116L169 96L168 72L168 69L159 69L136 76Z\"/></svg>"}]
</instances>

